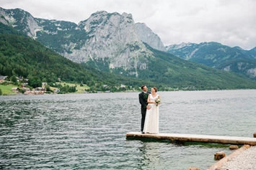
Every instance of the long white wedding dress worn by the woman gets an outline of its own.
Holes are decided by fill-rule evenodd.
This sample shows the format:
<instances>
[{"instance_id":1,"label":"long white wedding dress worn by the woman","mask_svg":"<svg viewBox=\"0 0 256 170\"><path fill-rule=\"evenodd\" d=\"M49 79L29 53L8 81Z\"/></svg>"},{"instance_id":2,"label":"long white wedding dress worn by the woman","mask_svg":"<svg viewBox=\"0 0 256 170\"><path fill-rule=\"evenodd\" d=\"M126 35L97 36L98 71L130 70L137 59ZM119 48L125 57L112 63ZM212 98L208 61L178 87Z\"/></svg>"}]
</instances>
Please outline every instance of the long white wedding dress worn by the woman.
<instances>
[{"instance_id":1,"label":"long white wedding dress worn by the woman","mask_svg":"<svg viewBox=\"0 0 256 170\"><path fill-rule=\"evenodd\" d=\"M155 101L158 95L153 98L149 94L150 100ZM156 106L155 103L149 103L151 109L146 110L146 118L144 123L144 133L159 133L159 105Z\"/></svg>"}]
</instances>

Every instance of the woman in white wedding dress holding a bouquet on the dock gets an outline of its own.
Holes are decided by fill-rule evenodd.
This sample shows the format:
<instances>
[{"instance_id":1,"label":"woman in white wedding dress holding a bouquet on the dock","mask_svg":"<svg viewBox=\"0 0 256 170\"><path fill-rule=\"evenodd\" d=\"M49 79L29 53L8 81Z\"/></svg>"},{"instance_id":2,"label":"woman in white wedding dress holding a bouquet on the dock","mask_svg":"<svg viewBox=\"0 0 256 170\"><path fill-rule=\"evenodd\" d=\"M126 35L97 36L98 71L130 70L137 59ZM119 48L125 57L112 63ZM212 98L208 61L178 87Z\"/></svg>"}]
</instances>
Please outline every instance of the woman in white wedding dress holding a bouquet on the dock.
<instances>
[{"instance_id":1,"label":"woman in white wedding dress holding a bouquet on the dock","mask_svg":"<svg viewBox=\"0 0 256 170\"><path fill-rule=\"evenodd\" d=\"M157 88L151 88L148 97L149 109L146 110L144 133L159 133L159 104L160 95L157 95Z\"/></svg>"}]
</instances>

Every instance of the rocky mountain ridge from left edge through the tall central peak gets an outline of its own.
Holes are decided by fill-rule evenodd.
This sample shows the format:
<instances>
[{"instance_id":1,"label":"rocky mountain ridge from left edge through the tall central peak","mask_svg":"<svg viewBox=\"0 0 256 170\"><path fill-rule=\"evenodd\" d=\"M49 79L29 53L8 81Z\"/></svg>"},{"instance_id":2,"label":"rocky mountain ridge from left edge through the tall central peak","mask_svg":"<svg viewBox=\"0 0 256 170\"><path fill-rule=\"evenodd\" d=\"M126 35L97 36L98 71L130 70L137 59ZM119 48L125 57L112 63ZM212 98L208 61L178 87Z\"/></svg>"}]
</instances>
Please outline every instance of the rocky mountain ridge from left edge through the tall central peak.
<instances>
[{"instance_id":1,"label":"rocky mountain ridge from left edge through the tall central peak","mask_svg":"<svg viewBox=\"0 0 256 170\"><path fill-rule=\"evenodd\" d=\"M0 9L0 14L15 29L37 39L45 47L69 60L86 62L100 70L122 68L137 76L137 69L147 67L147 58L152 54L136 34L131 14L97 11L78 25L37 19L22 9Z\"/></svg>"}]
</instances>

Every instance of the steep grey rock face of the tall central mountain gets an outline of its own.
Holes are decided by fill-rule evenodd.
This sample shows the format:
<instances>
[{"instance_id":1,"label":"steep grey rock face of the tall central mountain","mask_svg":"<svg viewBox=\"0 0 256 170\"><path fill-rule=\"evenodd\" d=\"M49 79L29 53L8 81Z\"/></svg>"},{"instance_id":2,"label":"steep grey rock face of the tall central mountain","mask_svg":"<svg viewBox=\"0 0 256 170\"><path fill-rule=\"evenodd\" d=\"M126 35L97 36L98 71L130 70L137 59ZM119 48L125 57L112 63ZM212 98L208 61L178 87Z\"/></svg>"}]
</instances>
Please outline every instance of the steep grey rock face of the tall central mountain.
<instances>
[{"instance_id":1,"label":"steep grey rock face of the tall central mountain","mask_svg":"<svg viewBox=\"0 0 256 170\"><path fill-rule=\"evenodd\" d=\"M79 57L79 62L107 60L110 68L131 70L145 68L146 65L141 62L152 54L138 38L131 14L98 11L80 22L78 28L88 38L71 54L65 52L65 57Z\"/></svg>"}]
</instances>

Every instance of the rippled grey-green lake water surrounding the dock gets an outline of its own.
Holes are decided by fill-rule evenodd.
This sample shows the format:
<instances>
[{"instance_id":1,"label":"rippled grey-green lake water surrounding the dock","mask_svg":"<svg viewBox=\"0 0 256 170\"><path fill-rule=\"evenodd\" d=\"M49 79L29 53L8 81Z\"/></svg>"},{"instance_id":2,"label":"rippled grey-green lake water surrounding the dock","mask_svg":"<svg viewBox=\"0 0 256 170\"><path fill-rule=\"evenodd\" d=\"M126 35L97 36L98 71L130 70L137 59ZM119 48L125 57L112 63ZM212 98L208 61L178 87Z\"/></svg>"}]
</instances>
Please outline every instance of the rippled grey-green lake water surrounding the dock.
<instances>
[{"instance_id":1,"label":"rippled grey-green lake water surrounding the dock","mask_svg":"<svg viewBox=\"0 0 256 170\"><path fill-rule=\"evenodd\" d=\"M256 90L159 92L160 133L252 137ZM0 169L201 170L229 145L130 140L138 93L0 96Z\"/></svg>"}]
</instances>

